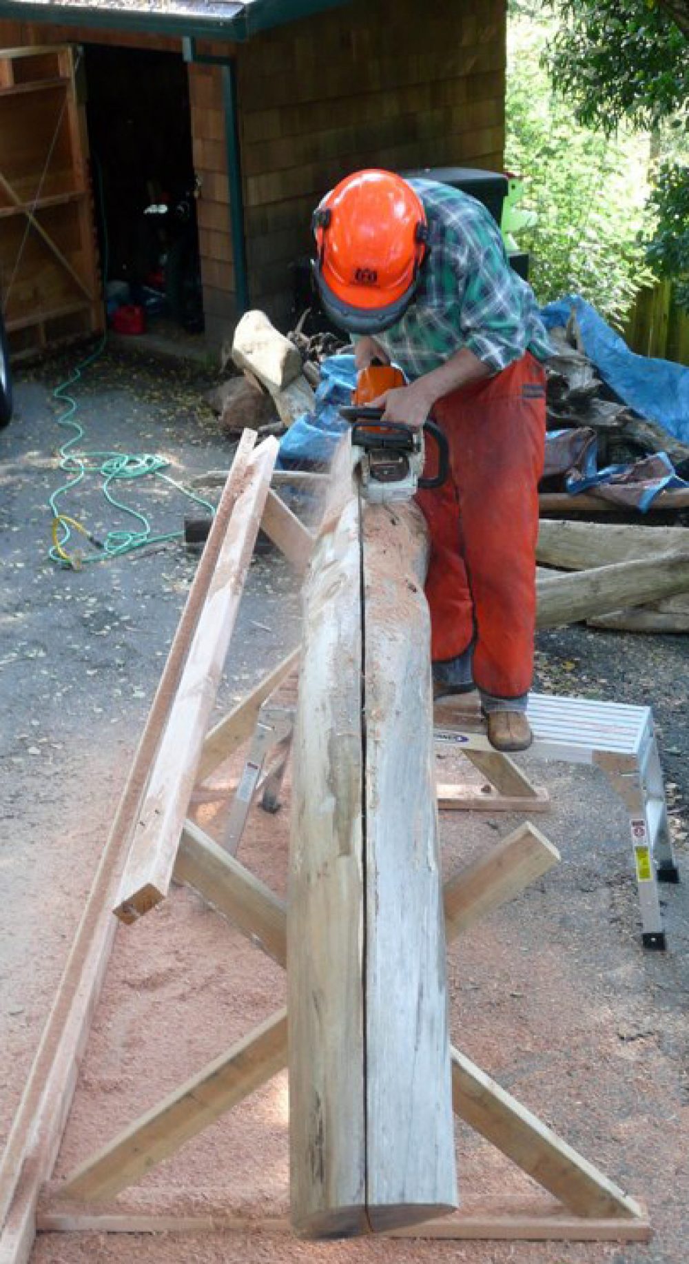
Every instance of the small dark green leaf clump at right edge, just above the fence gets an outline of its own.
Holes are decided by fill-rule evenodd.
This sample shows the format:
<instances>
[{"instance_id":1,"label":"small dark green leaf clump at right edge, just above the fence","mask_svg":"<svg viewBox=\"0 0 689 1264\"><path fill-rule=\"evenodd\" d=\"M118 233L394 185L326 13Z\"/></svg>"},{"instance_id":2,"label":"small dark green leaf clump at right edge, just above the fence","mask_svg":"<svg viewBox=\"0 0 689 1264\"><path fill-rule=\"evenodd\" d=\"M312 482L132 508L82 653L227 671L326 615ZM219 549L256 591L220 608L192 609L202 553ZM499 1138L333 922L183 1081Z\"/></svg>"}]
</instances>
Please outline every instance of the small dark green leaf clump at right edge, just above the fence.
<instances>
[{"instance_id":1,"label":"small dark green leaf clump at right edge, just above the fence","mask_svg":"<svg viewBox=\"0 0 689 1264\"><path fill-rule=\"evenodd\" d=\"M665 162L650 198L657 215L646 258L659 277L674 282L674 298L689 311L689 166Z\"/></svg>"}]
</instances>

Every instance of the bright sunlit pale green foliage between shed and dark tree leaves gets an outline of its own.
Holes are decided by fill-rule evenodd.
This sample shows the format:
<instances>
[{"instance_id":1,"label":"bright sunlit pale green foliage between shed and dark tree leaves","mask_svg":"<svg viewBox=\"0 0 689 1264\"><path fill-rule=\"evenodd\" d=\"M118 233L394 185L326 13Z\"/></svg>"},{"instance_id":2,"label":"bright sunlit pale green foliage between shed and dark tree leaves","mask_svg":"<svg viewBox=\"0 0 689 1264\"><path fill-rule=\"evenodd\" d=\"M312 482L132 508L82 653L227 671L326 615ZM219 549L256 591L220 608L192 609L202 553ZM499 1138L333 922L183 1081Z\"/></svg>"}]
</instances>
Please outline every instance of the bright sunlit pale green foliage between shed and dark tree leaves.
<instances>
[{"instance_id":1,"label":"bright sunlit pale green foliage between shed and dark tree leaves","mask_svg":"<svg viewBox=\"0 0 689 1264\"><path fill-rule=\"evenodd\" d=\"M630 178L638 144L573 121L542 64L551 33L534 16L511 23L506 164L527 177L523 205L537 212L520 243L531 252L540 302L580 293L621 326L649 281L638 241L643 193Z\"/></svg>"}]
</instances>

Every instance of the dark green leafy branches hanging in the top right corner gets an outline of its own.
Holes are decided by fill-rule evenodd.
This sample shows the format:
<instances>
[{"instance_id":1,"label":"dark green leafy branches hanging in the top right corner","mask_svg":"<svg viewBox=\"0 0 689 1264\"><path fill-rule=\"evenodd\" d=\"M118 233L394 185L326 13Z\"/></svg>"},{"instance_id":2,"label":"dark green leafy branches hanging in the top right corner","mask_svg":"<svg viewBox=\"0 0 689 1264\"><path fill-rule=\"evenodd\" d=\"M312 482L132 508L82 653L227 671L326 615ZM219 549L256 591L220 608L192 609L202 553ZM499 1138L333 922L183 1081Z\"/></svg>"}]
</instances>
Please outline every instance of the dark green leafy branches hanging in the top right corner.
<instances>
[{"instance_id":1,"label":"dark green leafy branches hanging in the top right corner","mask_svg":"<svg viewBox=\"0 0 689 1264\"><path fill-rule=\"evenodd\" d=\"M546 62L579 123L611 134L652 130L685 110L688 42L652 0L549 0L558 30Z\"/></svg>"}]
</instances>

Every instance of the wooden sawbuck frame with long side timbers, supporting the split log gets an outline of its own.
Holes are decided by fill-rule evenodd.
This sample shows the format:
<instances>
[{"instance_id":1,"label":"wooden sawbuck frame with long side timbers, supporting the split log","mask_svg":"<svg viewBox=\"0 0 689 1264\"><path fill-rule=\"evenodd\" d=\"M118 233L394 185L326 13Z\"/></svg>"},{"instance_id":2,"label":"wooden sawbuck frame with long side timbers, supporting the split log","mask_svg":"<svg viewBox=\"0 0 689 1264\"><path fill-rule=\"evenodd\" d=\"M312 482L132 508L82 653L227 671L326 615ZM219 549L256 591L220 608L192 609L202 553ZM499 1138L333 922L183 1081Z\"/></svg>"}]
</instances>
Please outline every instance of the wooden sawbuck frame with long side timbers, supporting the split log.
<instances>
[{"instance_id":1,"label":"wooden sawbuck frame with long side timbers, supporting the split log","mask_svg":"<svg viewBox=\"0 0 689 1264\"><path fill-rule=\"evenodd\" d=\"M113 1200L287 1064L284 1009L134 1119L96 1154L85 1157L66 1181L49 1181L107 966L116 924L113 910L121 921L137 920L168 896L174 877L230 918L274 961L286 964L284 902L187 817L195 786L202 787L204 779L252 737L262 708L297 665L297 652L292 652L206 732L259 525L300 568L314 546L306 527L269 489L276 441L268 439L253 450L255 434L245 432L239 445L9 1138L0 1167L3 1261L28 1260L39 1192L43 1206L38 1227L51 1231L250 1231L243 1217L228 1216L223 1208L183 1217L172 1205L164 1213L158 1207L147 1215L140 1202L128 1206ZM320 544L329 530L332 521L327 522L326 514ZM195 688L198 681L207 686ZM279 724L274 733L278 760L252 782L252 801L267 786L273 795L279 786L284 758ZM247 798L245 786L241 793ZM240 833L239 828L236 846ZM448 942L466 933L558 860L549 841L525 824L453 875L441 892ZM292 978L292 997L297 983ZM516 1216L485 1207L426 1224L407 1222L394 1230L394 1236L649 1240L649 1222L638 1203L459 1049L451 1048L449 1057L454 1112L555 1201L536 1210L523 1208ZM288 1229L279 1217L254 1224L264 1232Z\"/></svg>"}]
</instances>

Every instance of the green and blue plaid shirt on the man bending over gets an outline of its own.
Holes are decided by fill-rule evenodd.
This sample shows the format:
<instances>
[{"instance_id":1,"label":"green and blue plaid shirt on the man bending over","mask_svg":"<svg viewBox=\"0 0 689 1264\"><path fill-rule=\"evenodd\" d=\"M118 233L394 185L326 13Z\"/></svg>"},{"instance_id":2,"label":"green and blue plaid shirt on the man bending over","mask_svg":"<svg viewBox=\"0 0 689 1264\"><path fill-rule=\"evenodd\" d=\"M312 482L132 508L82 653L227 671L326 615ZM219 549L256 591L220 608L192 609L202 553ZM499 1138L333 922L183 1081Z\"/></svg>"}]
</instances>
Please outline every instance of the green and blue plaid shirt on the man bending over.
<instances>
[{"instance_id":1,"label":"green and blue plaid shirt on the man bending over","mask_svg":"<svg viewBox=\"0 0 689 1264\"><path fill-rule=\"evenodd\" d=\"M410 179L426 210L430 258L413 303L375 339L410 380L466 346L493 373L531 351L552 348L530 286L509 267L491 212L468 193L431 179Z\"/></svg>"}]
</instances>

